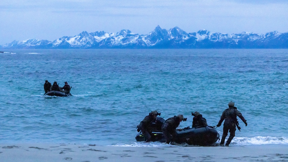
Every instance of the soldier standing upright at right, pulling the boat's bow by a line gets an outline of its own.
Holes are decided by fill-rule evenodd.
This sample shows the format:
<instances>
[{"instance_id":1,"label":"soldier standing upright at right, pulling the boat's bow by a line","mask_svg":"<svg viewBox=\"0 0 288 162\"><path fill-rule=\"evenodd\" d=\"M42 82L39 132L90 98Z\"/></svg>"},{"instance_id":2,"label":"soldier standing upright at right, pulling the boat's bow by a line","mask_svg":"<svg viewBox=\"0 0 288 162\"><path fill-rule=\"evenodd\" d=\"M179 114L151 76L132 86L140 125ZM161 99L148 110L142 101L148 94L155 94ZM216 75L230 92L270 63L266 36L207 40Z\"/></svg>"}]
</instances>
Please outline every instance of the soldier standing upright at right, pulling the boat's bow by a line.
<instances>
[{"instance_id":1,"label":"soldier standing upright at right, pulling the boat's bow by a line","mask_svg":"<svg viewBox=\"0 0 288 162\"><path fill-rule=\"evenodd\" d=\"M220 145L223 145L225 142L225 138L228 135L228 131L230 132L230 136L228 138L228 140L226 141L226 146L229 146L230 142L232 141L232 139L235 136L235 131L236 131L236 122L237 121L237 116L245 123L245 126L247 126L247 122L244 119L244 117L242 116L242 114L240 113L240 111L237 110L237 108L234 106L234 102L230 101L228 103L229 108L227 108L226 110L223 111L219 123L217 124L217 127L221 126L221 123L224 121L224 125L223 125L223 135L221 138L221 142Z\"/></svg>"}]
</instances>

